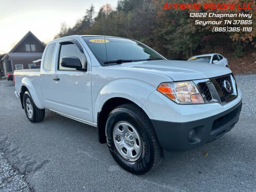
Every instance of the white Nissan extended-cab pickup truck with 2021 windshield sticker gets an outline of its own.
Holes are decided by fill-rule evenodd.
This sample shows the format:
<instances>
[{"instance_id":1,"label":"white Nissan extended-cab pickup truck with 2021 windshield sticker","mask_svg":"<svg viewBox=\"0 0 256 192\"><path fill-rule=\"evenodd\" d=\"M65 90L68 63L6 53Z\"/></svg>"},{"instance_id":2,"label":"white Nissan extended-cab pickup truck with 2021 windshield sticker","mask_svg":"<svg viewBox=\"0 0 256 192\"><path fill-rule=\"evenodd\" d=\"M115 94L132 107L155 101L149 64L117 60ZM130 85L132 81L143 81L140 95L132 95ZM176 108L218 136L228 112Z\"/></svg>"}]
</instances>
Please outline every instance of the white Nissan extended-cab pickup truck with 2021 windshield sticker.
<instances>
[{"instance_id":1,"label":"white Nissan extended-cab pickup truck with 2021 windshield sticker","mask_svg":"<svg viewBox=\"0 0 256 192\"><path fill-rule=\"evenodd\" d=\"M166 60L118 37L55 39L41 69L15 70L14 81L29 121L42 121L50 109L97 127L100 143L107 142L115 161L134 174L221 137L242 108L230 69Z\"/></svg>"}]
</instances>

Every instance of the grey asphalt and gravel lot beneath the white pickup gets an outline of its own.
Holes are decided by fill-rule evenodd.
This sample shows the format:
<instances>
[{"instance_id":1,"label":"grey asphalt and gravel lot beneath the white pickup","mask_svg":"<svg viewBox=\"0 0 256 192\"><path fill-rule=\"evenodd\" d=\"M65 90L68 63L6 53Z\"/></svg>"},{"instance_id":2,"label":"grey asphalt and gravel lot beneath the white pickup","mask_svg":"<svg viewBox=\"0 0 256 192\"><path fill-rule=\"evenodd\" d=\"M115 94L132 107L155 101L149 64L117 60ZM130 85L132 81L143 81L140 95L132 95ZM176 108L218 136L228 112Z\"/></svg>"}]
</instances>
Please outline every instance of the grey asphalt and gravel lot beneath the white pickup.
<instances>
[{"instance_id":1,"label":"grey asphalt and gravel lot beneath the white pickup","mask_svg":"<svg viewBox=\"0 0 256 192\"><path fill-rule=\"evenodd\" d=\"M115 163L95 127L49 110L29 122L12 82L0 81L0 191L256 191L256 75L236 79L243 108L233 130L141 176Z\"/></svg>"}]
</instances>

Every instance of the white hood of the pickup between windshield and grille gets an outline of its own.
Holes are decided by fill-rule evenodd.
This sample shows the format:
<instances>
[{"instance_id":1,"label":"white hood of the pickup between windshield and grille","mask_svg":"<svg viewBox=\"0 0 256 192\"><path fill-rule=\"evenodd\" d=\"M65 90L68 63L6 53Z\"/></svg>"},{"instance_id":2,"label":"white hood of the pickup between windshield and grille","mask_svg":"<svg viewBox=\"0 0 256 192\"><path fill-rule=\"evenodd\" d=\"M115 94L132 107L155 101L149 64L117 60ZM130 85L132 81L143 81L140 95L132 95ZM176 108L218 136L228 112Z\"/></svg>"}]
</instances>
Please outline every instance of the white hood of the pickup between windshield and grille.
<instances>
[{"instance_id":1,"label":"white hood of the pickup between windshield and grille","mask_svg":"<svg viewBox=\"0 0 256 192\"><path fill-rule=\"evenodd\" d=\"M231 73L229 68L214 64L174 60L138 61L109 67L163 74L171 77L173 81L204 79Z\"/></svg>"}]
</instances>

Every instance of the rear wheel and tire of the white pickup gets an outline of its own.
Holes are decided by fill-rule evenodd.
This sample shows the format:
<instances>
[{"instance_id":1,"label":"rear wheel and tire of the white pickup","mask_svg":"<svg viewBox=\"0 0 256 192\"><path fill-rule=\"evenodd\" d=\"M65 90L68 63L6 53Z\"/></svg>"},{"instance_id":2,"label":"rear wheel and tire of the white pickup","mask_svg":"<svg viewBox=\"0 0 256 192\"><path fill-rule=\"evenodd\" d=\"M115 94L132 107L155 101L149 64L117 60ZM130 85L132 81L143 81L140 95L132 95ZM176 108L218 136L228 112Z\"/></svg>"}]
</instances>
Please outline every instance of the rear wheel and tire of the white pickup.
<instances>
[{"instance_id":1,"label":"rear wheel and tire of the white pickup","mask_svg":"<svg viewBox=\"0 0 256 192\"><path fill-rule=\"evenodd\" d=\"M30 122L41 122L44 119L44 109L38 109L28 91L23 94L23 106Z\"/></svg>"}]
</instances>

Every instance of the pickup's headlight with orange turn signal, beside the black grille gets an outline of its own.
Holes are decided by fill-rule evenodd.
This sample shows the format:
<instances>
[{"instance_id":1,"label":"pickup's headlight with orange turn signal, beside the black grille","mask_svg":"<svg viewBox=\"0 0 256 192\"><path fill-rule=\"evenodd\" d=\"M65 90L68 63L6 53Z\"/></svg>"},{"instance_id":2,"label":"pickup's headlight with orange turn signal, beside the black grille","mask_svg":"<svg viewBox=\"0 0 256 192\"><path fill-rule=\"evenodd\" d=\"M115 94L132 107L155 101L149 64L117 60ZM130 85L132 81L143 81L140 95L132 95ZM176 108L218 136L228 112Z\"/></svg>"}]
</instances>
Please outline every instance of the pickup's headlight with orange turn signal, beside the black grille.
<instances>
[{"instance_id":1,"label":"pickup's headlight with orange turn signal, beside the black grille","mask_svg":"<svg viewBox=\"0 0 256 192\"><path fill-rule=\"evenodd\" d=\"M161 83L157 91L163 93L166 97L180 104L198 104L204 103L196 85L189 82Z\"/></svg>"}]
</instances>

